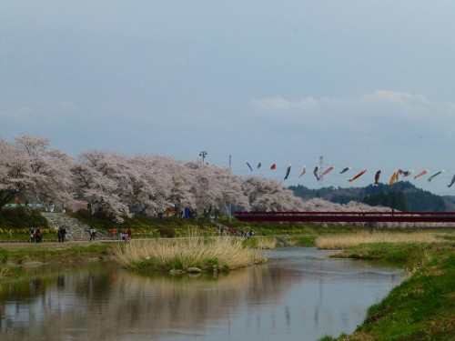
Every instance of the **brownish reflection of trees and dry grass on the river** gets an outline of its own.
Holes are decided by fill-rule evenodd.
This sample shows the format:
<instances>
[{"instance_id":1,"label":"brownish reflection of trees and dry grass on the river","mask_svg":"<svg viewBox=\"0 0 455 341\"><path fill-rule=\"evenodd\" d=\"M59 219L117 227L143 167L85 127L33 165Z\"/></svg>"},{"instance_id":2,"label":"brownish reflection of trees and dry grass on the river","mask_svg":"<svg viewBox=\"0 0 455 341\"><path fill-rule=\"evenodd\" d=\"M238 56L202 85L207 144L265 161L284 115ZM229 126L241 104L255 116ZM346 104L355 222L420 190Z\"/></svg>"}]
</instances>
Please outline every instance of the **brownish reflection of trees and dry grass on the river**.
<instances>
[{"instance_id":1,"label":"brownish reflection of trees and dry grass on the river","mask_svg":"<svg viewBox=\"0 0 455 341\"><path fill-rule=\"evenodd\" d=\"M300 280L294 274L287 281L276 281L275 271L281 270L253 266L197 277L137 276L115 267L59 272L46 277L48 285L40 292L23 292L23 302L7 305L0 319L0 339L135 339L135 335L143 339L145 333L182 326L194 330L209 319L227 318L242 304L276 301ZM25 285L30 281L18 284ZM131 330L134 335L128 334Z\"/></svg>"}]
</instances>

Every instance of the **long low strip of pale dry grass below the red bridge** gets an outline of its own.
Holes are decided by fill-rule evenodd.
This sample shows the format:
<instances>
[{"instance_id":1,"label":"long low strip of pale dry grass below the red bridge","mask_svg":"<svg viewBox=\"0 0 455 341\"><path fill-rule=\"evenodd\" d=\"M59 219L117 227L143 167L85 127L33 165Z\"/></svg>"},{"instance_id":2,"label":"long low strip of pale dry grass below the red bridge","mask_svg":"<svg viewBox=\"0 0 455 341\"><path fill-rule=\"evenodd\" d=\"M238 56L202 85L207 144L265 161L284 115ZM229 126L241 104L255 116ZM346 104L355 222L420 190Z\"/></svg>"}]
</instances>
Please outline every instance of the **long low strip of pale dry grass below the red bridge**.
<instances>
[{"instance_id":1,"label":"long low strip of pale dry grass below the red bridge","mask_svg":"<svg viewBox=\"0 0 455 341\"><path fill-rule=\"evenodd\" d=\"M331 236L319 236L316 246L319 249L336 250L345 249L359 244L372 243L439 243L443 239L430 233L369 233L358 232L352 234L339 234Z\"/></svg>"}]
</instances>

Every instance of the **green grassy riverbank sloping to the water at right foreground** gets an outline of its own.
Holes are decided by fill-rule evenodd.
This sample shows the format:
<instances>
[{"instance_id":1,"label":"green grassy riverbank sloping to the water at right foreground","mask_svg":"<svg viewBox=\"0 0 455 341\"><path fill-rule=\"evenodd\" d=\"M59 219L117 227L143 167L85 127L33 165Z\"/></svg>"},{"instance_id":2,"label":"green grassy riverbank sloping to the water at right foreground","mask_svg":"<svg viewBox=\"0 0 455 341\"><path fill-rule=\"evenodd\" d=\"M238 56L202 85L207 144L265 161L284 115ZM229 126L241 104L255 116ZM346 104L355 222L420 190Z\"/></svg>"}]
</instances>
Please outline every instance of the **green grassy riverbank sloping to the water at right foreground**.
<instances>
[{"instance_id":1,"label":"green grassy riverbank sloping to the water at right foreground","mask_svg":"<svg viewBox=\"0 0 455 341\"><path fill-rule=\"evenodd\" d=\"M350 336L322 340L454 340L455 244L382 242L351 246L336 257L387 261L406 268L409 277L379 304Z\"/></svg>"}]
</instances>

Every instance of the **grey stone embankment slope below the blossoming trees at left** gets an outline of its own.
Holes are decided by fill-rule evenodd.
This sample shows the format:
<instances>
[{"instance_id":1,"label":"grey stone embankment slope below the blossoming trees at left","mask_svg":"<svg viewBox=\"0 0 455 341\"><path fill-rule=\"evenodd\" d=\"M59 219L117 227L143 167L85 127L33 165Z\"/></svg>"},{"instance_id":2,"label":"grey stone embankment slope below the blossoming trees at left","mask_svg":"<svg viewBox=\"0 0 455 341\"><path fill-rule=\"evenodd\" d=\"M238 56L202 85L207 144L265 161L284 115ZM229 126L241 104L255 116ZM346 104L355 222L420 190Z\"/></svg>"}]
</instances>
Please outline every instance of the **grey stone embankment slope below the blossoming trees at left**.
<instances>
[{"instance_id":1,"label":"grey stone embankment slope below the blossoming trees at left","mask_svg":"<svg viewBox=\"0 0 455 341\"><path fill-rule=\"evenodd\" d=\"M54 228L57 232L58 227L65 226L66 240L86 240L89 239L88 230L90 226L81 223L76 218L67 216L65 213L42 212L42 216L47 220L49 227ZM96 239L103 239L104 234L96 231Z\"/></svg>"}]
</instances>

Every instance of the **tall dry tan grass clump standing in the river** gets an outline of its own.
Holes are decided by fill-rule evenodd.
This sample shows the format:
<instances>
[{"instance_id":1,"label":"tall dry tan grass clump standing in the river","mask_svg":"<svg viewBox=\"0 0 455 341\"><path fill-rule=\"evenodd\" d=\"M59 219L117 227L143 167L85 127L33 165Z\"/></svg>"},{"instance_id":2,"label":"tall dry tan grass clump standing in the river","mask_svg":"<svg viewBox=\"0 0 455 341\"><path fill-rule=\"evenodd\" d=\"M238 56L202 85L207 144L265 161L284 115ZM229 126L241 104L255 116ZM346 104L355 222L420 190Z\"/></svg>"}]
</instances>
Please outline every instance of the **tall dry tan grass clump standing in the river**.
<instances>
[{"instance_id":1,"label":"tall dry tan grass clump standing in the river","mask_svg":"<svg viewBox=\"0 0 455 341\"><path fill-rule=\"evenodd\" d=\"M230 236L132 241L117 250L116 258L120 265L140 271L229 270L266 261L258 249L245 247L242 239Z\"/></svg>"}]
</instances>

